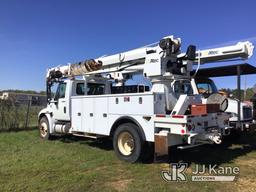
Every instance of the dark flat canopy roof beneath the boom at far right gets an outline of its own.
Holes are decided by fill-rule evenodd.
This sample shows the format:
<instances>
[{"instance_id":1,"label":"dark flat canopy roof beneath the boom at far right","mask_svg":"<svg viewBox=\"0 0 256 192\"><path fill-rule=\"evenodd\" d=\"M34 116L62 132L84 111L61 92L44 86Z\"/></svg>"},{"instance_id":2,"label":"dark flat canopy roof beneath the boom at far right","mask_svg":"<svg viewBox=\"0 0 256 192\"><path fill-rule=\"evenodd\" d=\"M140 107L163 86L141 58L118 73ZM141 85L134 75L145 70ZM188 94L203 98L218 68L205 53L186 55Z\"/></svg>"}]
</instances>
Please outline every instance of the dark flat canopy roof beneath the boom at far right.
<instances>
[{"instance_id":1,"label":"dark flat canopy roof beneath the boom at far right","mask_svg":"<svg viewBox=\"0 0 256 192\"><path fill-rule=\"evenodd\" d=\"M224 77L224 76L236 76L237 70L240 68L240 75L252 75L256 74L256 67L248 64L236 64L221 67L211 67L199 69L196 77ZM192 72L194 74L195 71Z\"/></svg>"}]
</instances>

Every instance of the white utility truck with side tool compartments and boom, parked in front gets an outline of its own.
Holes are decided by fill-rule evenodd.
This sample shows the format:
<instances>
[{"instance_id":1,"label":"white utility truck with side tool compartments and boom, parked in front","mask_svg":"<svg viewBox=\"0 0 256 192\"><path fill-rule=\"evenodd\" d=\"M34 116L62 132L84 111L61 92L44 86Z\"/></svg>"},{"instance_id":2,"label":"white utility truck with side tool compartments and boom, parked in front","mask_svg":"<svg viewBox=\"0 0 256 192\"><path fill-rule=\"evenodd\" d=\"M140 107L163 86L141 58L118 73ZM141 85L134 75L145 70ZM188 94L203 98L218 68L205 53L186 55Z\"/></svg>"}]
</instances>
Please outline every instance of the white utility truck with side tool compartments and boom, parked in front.
<instances>
[{"instance_id":1,"label":"white utility truck with side tool compartments and boom, parked in front","mask_svg":"<svg viewBox=\"0 0 256 192\"><path fill-rule=\"evenodd\" d=\"M209 50L208 60L252 54L248 42L224 49L222 55ZM145 158L150 144L157 155L167 154L169 146L219 144L232 128L229 115L219 104L202 104L200 94L176 97L172 89L175 80L191 80L193 64L204 59L193 45L181 53L181 39L168 36L154 46L50 68L48 105L39 113L40 136L110 136L116 155L128 162ZM135 74L148 78L152 88L127 85Z\"/></svg>"}]
</instances>

